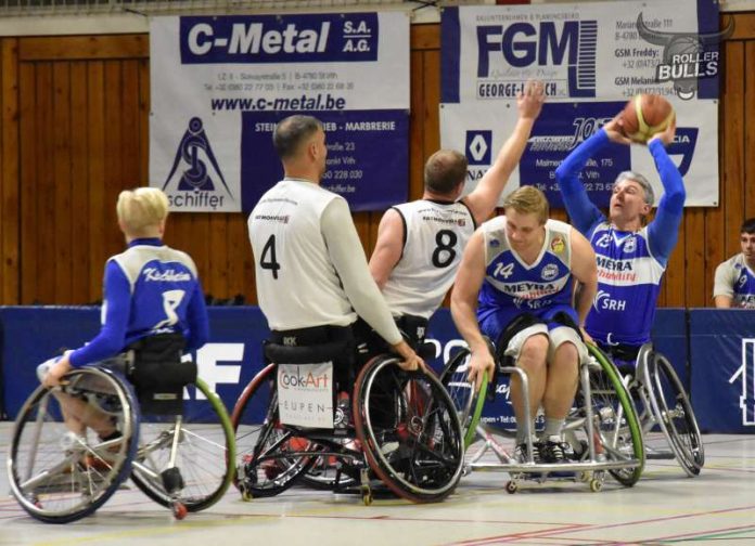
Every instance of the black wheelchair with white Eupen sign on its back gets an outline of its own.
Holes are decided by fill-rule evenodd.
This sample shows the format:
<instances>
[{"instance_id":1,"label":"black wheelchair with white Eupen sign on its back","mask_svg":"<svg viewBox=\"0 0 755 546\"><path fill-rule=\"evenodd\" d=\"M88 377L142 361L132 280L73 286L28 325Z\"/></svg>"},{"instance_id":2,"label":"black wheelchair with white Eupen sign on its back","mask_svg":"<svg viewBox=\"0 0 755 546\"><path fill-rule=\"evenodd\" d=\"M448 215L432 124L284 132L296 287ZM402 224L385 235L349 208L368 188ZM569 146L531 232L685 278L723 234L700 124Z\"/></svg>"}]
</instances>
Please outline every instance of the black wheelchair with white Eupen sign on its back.
<instances>
[{"instance_id":1,"label":"black wheelchair with white Eupen sign on its back","mask_svg":"<svg viewBox=\"0 0 755 546\"><path fill-rule=\"evenodd\" d=\"M453 492L463 464L461 425L440 381L432 373L406 372L396 356L383 354L361 368L348 394L338 394L349 374L345 380L338 376L345 366L350 369L353 353L348 342L265 346L267 364L231 417L242 498L278 495L300 483L357 492L370 505L384 490L375 479L414 503L442 500ZM323 364L325 376L318 367ZM305 400L300 393L292 399L292 370L295 377L329 378L321 402L305 408L320 414L315 421L308 420L311 412L290 412L292 400Z\"/></svg>"}]
</instances>

